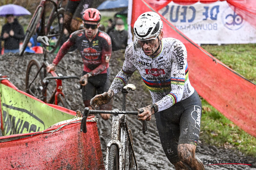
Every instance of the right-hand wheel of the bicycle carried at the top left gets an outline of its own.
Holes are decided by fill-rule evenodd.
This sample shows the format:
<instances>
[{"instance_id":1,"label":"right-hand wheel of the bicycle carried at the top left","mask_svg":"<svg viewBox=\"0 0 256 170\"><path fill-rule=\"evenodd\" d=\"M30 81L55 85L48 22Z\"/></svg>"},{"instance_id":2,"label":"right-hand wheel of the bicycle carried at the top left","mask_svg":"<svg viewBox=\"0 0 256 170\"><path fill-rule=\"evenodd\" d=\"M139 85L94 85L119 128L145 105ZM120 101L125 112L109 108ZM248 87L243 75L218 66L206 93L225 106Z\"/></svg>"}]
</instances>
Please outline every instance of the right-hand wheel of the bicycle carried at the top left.
<instances>
[{"instance_id":1,"label":"right-hand wheel of the bicycle carried at the top left","mask_svg":"<svg viewBox=\"0 0 256 170\"><path fill-rule=\"evenodd\" d=\"M49 38L50 46L47 47L49 53L55 52L62 38L63 21L61 21L61 18L63 18L64 10L60 10L61 5L62 3L56 7L52 1L46 1L45 4L44 34Z\"/></svg>"}]
</instances>

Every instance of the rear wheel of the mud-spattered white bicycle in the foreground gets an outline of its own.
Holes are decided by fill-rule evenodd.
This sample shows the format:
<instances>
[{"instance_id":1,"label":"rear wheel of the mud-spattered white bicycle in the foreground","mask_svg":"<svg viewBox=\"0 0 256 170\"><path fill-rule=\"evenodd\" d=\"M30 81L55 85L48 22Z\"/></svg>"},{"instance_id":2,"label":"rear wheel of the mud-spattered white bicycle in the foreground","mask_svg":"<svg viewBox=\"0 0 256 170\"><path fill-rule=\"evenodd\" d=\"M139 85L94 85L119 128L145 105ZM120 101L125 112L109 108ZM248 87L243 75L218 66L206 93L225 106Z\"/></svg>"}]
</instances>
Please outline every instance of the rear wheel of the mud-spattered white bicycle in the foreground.
<instances>
[{"instance_id":1,"label":"rear wheel of the mud-spattered white bicycle in the foreground","mask_svg":"<svg viewBox=\"0 0 256 170\"><path fill-rule=\"evenodd\" d=\"M128 135L130 136L130 140L128 138ZM124 162L124 169L125 170L136 170L136 166L135 166L135 160L134 160L134 155L132 152L132 134L131 134L131 130L128 130L128 134L127 134L127 139L126 139L126 143L125 143L125 162Z\"/></svg>"}]
</instances>

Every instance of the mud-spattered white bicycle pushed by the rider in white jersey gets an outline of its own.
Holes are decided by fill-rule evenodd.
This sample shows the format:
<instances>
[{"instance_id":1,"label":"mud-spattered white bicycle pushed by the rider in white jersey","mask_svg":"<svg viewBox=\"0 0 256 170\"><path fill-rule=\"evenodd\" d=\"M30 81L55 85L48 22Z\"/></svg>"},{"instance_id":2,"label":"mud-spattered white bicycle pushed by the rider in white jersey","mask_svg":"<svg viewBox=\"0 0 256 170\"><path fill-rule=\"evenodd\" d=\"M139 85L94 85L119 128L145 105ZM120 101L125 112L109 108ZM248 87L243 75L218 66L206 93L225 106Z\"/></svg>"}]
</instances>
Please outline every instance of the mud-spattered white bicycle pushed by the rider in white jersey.
<instances>
[{"instance_id":1,"label":"mud-spattered white bicycle pushed by the rider in white jersey","mask_svg":"<svg viewBox=\"0 0 256 170\"><path fill-rule=\"evenodd\" d=\"M132 134L128 128L126 115L138 115L138 111L126 111L126 96L129 90L135 90L133 84L127 84L122 89L123 106L122 111L114 109L113 111L89 110L85 107L83 119L81 121L81 132L86 133L86 119L89 114L114 114L112 116L112 135L106 149L105 170L138 170L137 160L134 154ZM140 110L140 113L143 109ZM143 134L147 133L146 121L143 121Z\"/></svg>"}]
</instances>

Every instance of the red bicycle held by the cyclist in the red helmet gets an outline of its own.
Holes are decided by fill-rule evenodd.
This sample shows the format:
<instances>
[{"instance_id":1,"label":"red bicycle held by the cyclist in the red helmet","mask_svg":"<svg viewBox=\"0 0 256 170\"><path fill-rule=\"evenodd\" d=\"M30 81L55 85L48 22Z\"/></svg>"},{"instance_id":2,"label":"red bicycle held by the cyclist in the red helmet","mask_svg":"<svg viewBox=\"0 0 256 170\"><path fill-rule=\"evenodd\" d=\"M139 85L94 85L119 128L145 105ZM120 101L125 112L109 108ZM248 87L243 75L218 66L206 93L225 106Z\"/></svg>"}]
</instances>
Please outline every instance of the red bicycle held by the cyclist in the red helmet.
<instances>
[{"instance_id":1,"label":"red bicycle held by the cyclist in the red helmet","mask_svg":"<svg viewBox=\"0 0 256 170\"><path fill-rule=\"evenodd\" d=\"M25 82L26 92L42 100L45 103L56 104L67 108L68 105L64 100L65 96L62 92L62 80L80 80L80 77L63 76L62 74L57 74L55 71L51 71L52 76L46 77L46 67L49 65L49 63L46 60L46 48L47 46L49 46L49 38L47 36L38 36L37 40L43 45L44 60L42 64L40 64L40 62L36 59L30 60L30 62L28 63ZM56 87L51 93L49 93L47 88L49 85L49 80L51 79L55 79Z\"/></svg>"}]
</instances>

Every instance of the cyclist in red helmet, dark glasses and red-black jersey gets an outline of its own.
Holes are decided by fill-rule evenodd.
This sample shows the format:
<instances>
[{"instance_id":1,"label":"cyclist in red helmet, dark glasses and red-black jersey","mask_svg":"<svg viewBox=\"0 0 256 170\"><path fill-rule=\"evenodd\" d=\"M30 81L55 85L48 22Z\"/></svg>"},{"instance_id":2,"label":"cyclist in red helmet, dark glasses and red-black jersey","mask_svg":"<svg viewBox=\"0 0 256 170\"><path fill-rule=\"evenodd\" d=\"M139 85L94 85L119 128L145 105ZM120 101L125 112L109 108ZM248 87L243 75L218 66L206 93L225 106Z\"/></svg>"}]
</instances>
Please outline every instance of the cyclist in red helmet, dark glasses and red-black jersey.
<instances>
[{"instance_id":1,"label":"cyclist in red helmet, dark glasses and red-black jersey","mask_svg":"<svg viewBox=\"0 0 256 170\"><path fill-rule=\"evenodd\" d=\"M53 63L47 66L47 72L55 70L56 65L73 45L79 50L83 63L83 76L80 79L85 107L90 107L90 99L97 93L106 92L110 87L108 68L111 57L111 38L105 32L99 31L101 15L95 8L88 8L82 15L84 29L73 32L69 39L60 47ZM111 110L112 103L106 103L100 109ZM110 114L101 114L108 120Z\"/></svg>"}]
</instances>

